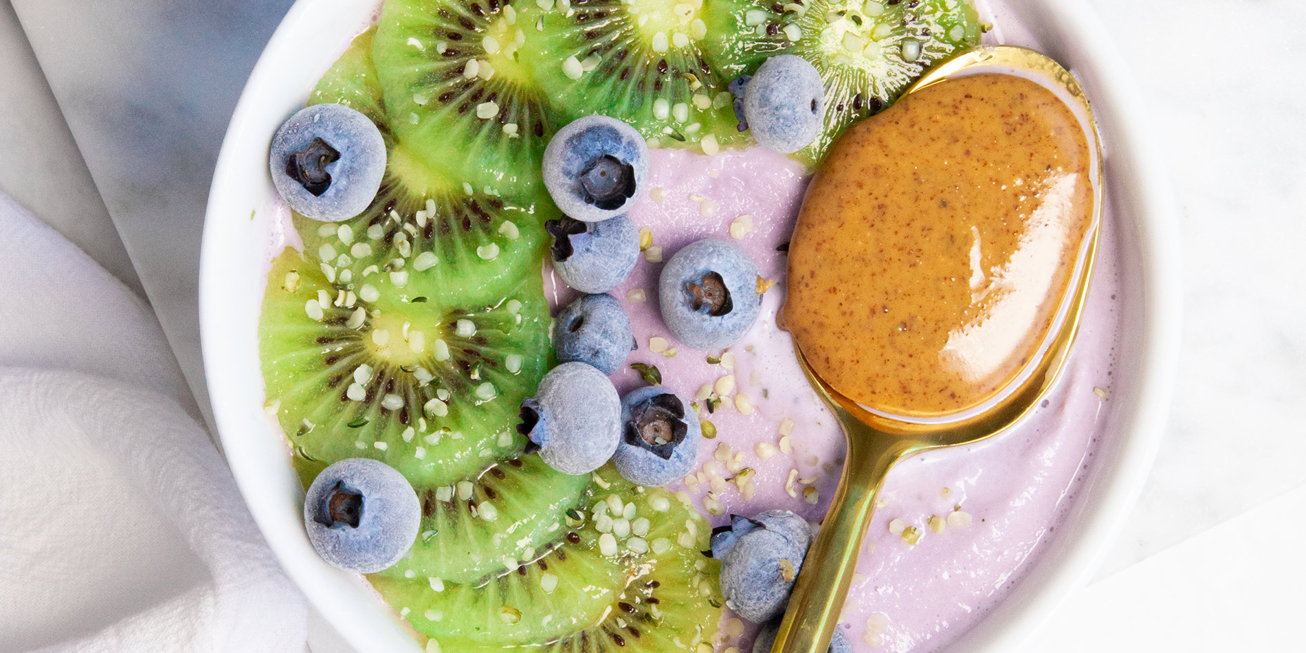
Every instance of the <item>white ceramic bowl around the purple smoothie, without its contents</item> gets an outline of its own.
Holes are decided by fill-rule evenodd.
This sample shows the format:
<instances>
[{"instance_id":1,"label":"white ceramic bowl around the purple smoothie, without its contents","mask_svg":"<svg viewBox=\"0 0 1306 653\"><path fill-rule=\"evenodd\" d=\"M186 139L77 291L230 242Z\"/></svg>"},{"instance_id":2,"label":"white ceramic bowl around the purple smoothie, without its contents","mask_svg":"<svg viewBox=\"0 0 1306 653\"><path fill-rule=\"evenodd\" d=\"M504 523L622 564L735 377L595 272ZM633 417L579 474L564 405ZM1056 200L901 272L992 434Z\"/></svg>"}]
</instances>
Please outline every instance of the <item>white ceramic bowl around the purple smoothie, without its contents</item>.
<instances>
[{"instance_id":1,"label":"white ceramic bowl around the purple smoothie, without its contents","mask_svg":"<svg viewBox=\"0 0 1306 653\"><path fill-rule=\"evenodd\" d=\"M315 607L362 652L417 650L406 627L359 576L325 564L302 524L303 491L287 445L264 413L257 325L276 191L268 144L379 0L299 0L259 59L213 175L200 266L200 325L213 414L236 483L282 565ZM1157 451L1179 342L1178 235L1171 195L1148 142L1147 116L1123 59L1081 0L1010 0L1043 50L1093 101L1126 295L1114 410L1058 535L1033 568L951 650L1015 650L1088 582L1128 516ZM336 44L336 46L328 46ZM1110 244L1107 244L1110 246Z\"/></svg>"}]
</instances>

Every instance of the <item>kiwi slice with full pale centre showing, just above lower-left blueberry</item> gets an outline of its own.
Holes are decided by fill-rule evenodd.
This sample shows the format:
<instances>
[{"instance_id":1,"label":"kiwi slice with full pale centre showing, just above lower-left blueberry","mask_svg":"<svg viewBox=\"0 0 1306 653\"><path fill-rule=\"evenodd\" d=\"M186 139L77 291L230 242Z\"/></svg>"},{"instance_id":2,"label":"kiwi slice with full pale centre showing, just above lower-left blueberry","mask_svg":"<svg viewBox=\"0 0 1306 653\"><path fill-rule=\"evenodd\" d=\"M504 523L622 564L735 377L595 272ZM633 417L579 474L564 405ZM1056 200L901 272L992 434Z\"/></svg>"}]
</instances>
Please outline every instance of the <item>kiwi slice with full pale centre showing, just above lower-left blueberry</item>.
<instances>
[{"instance_id":1,"label":"kiwi slice with full pale centre showing, just above lower-left blueberry","mask_svg":"<svg viewBox=\"0 0 1306 653\"><path fill-rule=\"evenodd\" d=\"M475 303L379 283L364 291L328 281L290 248L269 272L260 319L266 397L306 485L349 457L381 460L430 487L520 453L517 410L547 363L542 278L528 274Z\"/></svg>"}]
</instances>

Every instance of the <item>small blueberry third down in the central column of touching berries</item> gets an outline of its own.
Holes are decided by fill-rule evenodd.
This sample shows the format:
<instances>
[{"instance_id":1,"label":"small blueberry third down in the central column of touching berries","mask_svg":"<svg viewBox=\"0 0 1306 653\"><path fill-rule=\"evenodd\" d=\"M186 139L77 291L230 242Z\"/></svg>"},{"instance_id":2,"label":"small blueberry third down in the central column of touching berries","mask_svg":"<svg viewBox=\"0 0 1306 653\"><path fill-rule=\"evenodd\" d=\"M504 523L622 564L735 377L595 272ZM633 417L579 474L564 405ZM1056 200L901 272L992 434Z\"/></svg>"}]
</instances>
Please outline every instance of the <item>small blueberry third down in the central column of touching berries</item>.
<instances>
[{"instance_id":1,"label":"small blueberry third down in the central column of touching berries","mask_svg":"<svg viewBox=\"0 0 1306 653\"><path fill-rule=\"evenodd\" d=\"M613 295L581 295L554 320L554 347L562 362L580 360L613 374L635 349L631 319Z\"/></svg>"}]
</instances>

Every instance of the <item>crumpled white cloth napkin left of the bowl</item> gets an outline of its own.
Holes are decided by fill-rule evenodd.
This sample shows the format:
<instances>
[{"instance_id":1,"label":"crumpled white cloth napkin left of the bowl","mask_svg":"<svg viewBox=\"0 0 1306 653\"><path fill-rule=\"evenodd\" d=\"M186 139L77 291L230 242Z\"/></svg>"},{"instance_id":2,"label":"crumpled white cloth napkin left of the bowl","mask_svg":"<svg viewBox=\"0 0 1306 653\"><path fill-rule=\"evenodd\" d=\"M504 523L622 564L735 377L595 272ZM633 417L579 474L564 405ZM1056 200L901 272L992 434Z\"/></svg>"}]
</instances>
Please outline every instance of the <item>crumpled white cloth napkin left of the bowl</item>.
<instances>
[{"instance_id":1,"label":"crumpled white cloth napkin left of the bowl","mask_svg":"<svg viewBox=\"0 0 1306 653\"><path fill-rule=\"evenodd\" d=\"M0 193L0 652L304 650L150 308Z\"/></svg>"}]
</instances>

